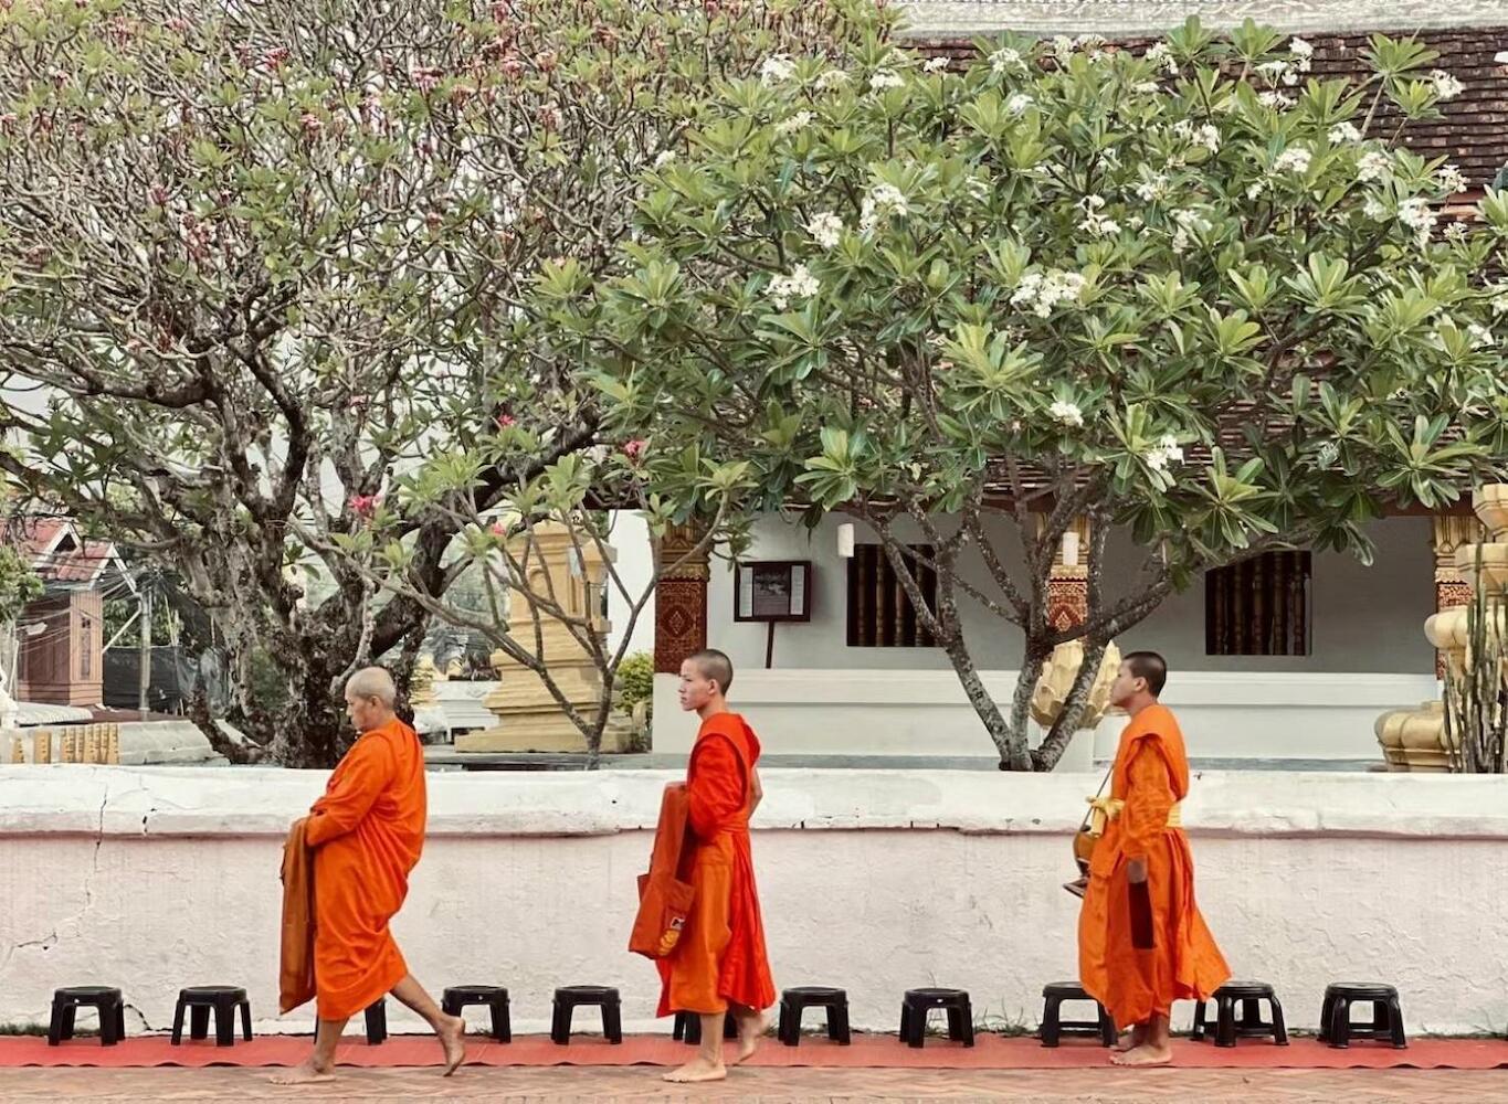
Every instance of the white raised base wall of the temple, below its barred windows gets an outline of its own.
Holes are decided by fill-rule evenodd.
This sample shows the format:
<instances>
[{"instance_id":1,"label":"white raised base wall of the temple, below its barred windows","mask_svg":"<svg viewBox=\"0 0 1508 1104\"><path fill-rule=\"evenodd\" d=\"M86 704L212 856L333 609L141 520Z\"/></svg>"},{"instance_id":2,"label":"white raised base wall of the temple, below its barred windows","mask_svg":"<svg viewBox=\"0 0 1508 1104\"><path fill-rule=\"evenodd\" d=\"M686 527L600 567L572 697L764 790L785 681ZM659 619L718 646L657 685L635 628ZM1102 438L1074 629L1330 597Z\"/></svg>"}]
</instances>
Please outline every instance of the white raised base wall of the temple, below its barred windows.
<instances>
[{"instance_id":1,"label":"white raised base wall of the temple, below its barred windows","mask_svg":"<svg viewBox=\"0 0 1508 1104\"><path fill-rule=\"evenodd\" d=\"M986 672L1009 708L1016 673ZM677 678L654 676L654 750L685 752L695 720ZM1196 759L1377 759L1372 724L1387 709L1436 697L1431 675L1182 672L1163 700ZM774 755L995 755L952 670L740 670L733 705ZM1065 761L1087 770L1114 753L1123 720L1078 737Z\"/></svg>"}]
</instances>

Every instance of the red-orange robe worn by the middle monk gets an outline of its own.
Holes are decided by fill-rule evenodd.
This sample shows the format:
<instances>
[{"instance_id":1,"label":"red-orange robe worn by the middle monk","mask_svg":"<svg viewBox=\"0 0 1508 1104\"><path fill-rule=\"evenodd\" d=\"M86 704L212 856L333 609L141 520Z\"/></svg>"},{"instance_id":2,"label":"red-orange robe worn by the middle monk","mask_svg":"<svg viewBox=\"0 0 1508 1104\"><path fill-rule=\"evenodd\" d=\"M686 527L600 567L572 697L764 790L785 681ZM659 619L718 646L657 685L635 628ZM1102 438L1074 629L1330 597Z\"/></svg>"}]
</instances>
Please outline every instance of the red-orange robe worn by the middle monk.
<instances>
[{"instance_id":1,"label":"red-orange robe worn by the middle monk","mask_svg":"<svg viewBox=\"0 0 1508 1104\"><path fill-rule=\"evenodd\" d=\"M775 1003L749 849L751 777L759 753L759 738L736 712L707 717L691 749L688 880L695 898L676 949L656 962L659 1015Z\"/></svg>"}]
</instances>

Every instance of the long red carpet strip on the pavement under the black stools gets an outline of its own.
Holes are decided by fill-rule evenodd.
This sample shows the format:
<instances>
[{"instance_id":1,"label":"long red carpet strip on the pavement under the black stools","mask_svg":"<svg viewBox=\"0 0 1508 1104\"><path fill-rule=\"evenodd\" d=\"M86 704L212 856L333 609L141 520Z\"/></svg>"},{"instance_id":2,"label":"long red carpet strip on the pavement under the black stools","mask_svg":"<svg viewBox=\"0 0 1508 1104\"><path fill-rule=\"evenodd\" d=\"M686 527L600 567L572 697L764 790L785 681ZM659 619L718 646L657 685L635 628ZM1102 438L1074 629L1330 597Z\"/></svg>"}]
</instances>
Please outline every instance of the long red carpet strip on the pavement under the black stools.
<instances>
[{"instance_id":1,"label":"long red carpet strip on the pavement under the black stools","mask_svg":"<svg viewBox=\"0 0 1508 1104\"><path fill-rule=\"evenodd\" d=\"M308 1036L267 1035L234 1047L184 1041L173 1047L167 1036L148 1035L127 1039L116 1047L101 1047L98 1039L72 1039L48 1047L38 1036L0 1038L0 1066L291 1066L309 1053ZM1294 1039L1288 1047L1247 1041L1235 1050L1209 1044L1176 1041L1178 1065L1203 1069L1497 1069L1508 1066L1508 1042L1500 1039L1418 1039L1408 1050L1360 1042L1350 1050L1332 1050L1313 1039ZM472 1039L466 1065L474 1066L676 1066L691 1048L668 1036L641 1035L621 1047L600 1039L575 1039L556 1047L547 1036L519 1036L511 1044ZM394 1036L380 1047L353 1038L338 1060L347 1066L431 1066L439 1065L439 1045L425 1036ZM807 1038L799 1047L783 1047L766 1039L754 1056L756 1066L864 1066L864 1068L946 1068L946 1069L1083 1069L1107 1062L1107 1051L1087 1042L1065 1042L1047 1050L1036 1039L979 1036L968 1050L956 1042L929 1039L923 1050L911 1050L888 1035L854 1036L852 1047Z\"/></svg>"}]
</instances>

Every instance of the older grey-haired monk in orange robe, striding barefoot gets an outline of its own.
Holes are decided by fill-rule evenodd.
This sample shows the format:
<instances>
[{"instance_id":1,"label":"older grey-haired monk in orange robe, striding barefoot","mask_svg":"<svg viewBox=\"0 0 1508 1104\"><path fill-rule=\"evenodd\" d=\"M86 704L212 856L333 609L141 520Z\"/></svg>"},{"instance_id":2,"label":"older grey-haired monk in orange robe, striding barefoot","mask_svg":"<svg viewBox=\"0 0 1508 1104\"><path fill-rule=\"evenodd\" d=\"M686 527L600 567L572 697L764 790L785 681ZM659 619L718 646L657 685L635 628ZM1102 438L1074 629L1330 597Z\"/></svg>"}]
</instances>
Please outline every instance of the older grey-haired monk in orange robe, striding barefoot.
<instances>
[{"instance_id":1,"label":"older grey-haired monk in orange robe, striding barefoot","mask_svg":"<svg viewBox=\"0 0 1508 1104\"><path fill-rule=\"evenodd\" d=\"M388 993L434 1029L449 1077L466 1057L466 1024L445 1015L409 973L388 922L409 892L424 846L424 749L394 712L382 667L345 684L345 711L360 733L305 819L314 849L314 987L320 1026L314 1054L277 1084L329 1081L345 1021Z\"/></svg>"}]
</instances>

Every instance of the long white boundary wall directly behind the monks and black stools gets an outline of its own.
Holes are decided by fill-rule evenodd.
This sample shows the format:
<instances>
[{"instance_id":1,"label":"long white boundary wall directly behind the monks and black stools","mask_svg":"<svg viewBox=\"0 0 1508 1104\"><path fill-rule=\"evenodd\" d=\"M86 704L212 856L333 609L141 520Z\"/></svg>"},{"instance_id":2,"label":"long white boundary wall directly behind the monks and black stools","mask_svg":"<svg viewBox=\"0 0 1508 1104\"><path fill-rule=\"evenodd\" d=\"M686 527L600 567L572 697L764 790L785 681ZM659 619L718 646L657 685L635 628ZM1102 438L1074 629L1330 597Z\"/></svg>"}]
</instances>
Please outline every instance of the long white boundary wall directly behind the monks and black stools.
<instances>
[{"instance_id":1,"label":"long white boundary wall directly behind the monks and black stools","mask_svg":"<svg viewBox=\"0 0 1508 1104\"><path fill-rule=\"evenodd\" d=\"M395 922L416 976L510 987L520 1032L544 1029L553 987L614 984L629 1029L650 1029L654 971L624 943L668 777L431 776ZM768 771L754 852L777 985L846 987L867 1029L893 1029L902 991L930 984L968 988L991 1024L1034 1023L1042 984L1075 971L1060 883L1096 782ZM308 1029L309 1009L273 1018L277 866L321 783L0 768L0 1023L44 1023L56 987L100 982L125 991L131 1030L161 1029L179 987L237 984L259 1030ZM1215 937L1292 1026L1315 1026L1336 979L1396 984L1415 1032L1508 1021L1508 779L1208 773L1185 821Z\"/></svg>"}]
</instances>

